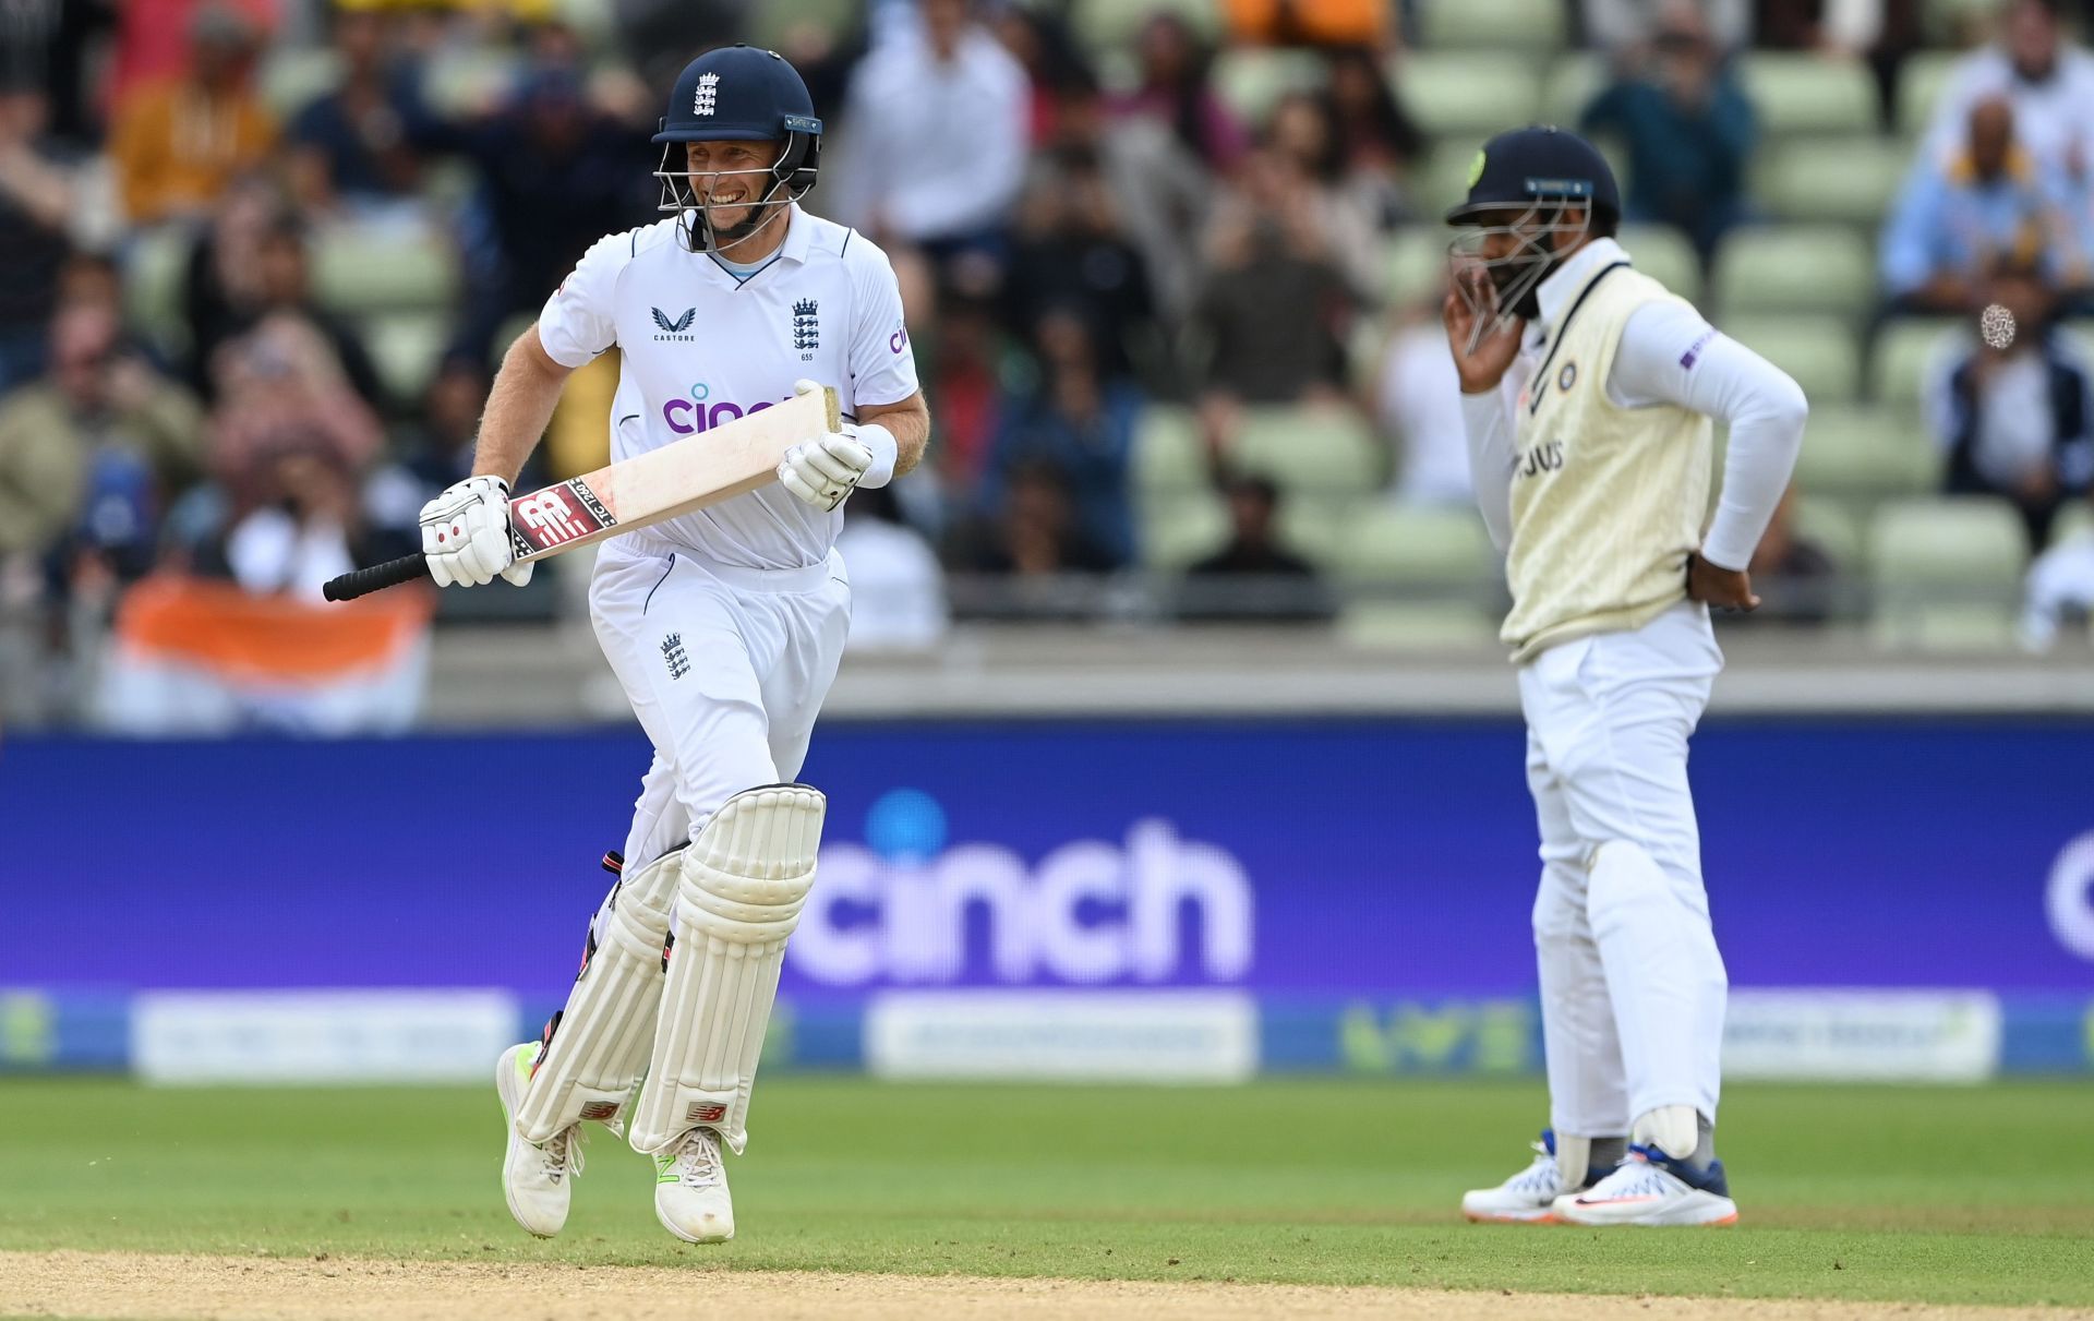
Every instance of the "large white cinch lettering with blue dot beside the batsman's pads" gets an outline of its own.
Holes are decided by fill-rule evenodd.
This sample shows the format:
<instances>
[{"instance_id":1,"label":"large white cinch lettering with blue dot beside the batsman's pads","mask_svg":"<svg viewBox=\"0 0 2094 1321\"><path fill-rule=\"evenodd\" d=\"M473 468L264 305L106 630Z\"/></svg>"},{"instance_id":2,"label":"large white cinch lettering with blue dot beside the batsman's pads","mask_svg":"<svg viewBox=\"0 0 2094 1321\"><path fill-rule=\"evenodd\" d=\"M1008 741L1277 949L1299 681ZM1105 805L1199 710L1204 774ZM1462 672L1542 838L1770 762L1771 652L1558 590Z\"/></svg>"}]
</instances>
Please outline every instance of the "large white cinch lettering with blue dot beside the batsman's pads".
<instances>
[{"instance_id":1,"label":"large white cinch lettering with blue dot beside the batsman's pads","mask_svg":"<svg viewBox=\"0 0 2094 1321\"><path fill-rule=\"evenodd\" d=\"M1227 850L1139 819L1028 863L953 844L944 806L890 789L865 844L825 844L787 967L819 986L1231 986L1252 965L1252 886Z\"/></svg>"}]
</instances>

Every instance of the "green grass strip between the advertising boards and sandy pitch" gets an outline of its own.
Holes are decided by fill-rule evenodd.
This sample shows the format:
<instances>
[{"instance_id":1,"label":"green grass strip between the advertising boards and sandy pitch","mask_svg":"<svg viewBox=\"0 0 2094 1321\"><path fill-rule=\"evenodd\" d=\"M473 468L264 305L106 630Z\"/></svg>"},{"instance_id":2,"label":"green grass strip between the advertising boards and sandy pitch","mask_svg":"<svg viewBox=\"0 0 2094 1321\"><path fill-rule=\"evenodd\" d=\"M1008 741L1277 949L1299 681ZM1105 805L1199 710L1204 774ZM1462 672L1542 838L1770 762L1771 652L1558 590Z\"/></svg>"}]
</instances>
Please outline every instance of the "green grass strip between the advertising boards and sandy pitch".
<instances>
[{"instance_id":1,"label":"green grass strip between the advertising boards and sandy pitch","mask_svg":"<svg viewBox=\"0 0 2094 1321\"><path fill-rule=\"evenodd\" d=\"M1744 1223L1474 1227L1533 1082L905 1087L779 1076L687 1248L601 1128L567 1233L517 1231L486 1089L0 1080L0 1248L2094 1304L2094 1084L1736 1087Z\"/></svg>"}]
</instances>

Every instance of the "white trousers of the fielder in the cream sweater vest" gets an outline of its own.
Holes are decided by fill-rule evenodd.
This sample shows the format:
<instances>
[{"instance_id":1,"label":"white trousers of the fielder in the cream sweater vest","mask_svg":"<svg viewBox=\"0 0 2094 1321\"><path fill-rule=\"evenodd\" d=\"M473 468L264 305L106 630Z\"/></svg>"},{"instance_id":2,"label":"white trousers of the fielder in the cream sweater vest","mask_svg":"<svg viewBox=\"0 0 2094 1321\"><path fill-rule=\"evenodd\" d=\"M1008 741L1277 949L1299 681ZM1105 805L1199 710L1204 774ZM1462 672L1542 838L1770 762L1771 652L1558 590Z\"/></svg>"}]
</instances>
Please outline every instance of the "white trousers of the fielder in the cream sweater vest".
<instances>
[{"instance_id":1,"label":"white trousers of the fielder in the cream sweater vest","mask_svg":"<svg viewBox=\"0 0 2094 1321\"><path fill-rule=\"evenodd\" d=\"M1688 735L1723 653L1681 601L1520 668L1541 823L1535 957L1550 1122L1621 1137L1661 1105L1715 1122L1728 978L1709 925ZM1602 846L1614 844L1604 867ZM1656 867L1652 869L1638 846Z\"/></svg>"}]
</instances>

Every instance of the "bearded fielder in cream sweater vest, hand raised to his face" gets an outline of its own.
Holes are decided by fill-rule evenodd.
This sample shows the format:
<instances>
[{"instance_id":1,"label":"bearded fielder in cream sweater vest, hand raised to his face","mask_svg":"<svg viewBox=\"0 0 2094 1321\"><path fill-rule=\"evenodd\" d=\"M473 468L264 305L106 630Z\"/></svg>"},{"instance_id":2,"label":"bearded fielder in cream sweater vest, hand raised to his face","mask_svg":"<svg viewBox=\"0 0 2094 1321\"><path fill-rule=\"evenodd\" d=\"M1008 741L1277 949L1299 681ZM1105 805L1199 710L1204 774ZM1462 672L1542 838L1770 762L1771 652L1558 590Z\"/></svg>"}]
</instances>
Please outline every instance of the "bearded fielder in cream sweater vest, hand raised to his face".
<instances>
[{"instance_id":1,"label":"bearded fielder in cream sweater vest, hand raised to his face","mask_svg":"<svg viewBox=\"0 0 2094 1321\"><path fill-rule=\"evenodd\" d=\"M1730 1225L1715 1158L1728 980L1702 890L1688 737L1723 655L1709 605L1753 609L1746 565L1788 486L1803 391L1629 264L1589 142L1485 144L1447 220L1445 320L1476 498L1508 553L1541 825L1533 932L1550 1130L1462 1200L1472 1221ZM1730 423L1702 534L1711 419Z\"/></svg>"}]
</instances>

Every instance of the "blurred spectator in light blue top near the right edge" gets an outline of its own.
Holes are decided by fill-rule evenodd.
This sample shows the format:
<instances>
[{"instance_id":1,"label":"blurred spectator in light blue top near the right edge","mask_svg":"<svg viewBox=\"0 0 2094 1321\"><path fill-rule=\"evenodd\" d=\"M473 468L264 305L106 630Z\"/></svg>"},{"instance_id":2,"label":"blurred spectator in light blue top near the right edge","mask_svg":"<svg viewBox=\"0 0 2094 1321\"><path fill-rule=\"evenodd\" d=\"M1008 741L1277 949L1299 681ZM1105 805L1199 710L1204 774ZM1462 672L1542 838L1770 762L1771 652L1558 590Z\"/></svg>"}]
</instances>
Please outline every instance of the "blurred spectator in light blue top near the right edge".
<instances>
[{"instance_id":1,"label":"blurred spectator in light blue top near the right edge","mask_svg":"<svg viewBox=\"0 0 2094 1321\"><path fill-rule=\"evenodd\" d=\"M2060 172L2014 140L2004 96L1970 109L1970 136L1945 159L1922 157L1883 232L1883 291L1899 312L1970 312L1985 272L2033 266L2052 289L2086 283L2086 207ZM2073 222L2079 214L2079 224Z\"/></svg>"}]
</instances>

